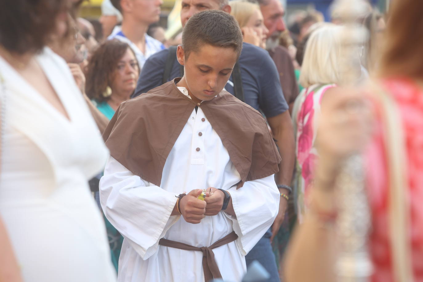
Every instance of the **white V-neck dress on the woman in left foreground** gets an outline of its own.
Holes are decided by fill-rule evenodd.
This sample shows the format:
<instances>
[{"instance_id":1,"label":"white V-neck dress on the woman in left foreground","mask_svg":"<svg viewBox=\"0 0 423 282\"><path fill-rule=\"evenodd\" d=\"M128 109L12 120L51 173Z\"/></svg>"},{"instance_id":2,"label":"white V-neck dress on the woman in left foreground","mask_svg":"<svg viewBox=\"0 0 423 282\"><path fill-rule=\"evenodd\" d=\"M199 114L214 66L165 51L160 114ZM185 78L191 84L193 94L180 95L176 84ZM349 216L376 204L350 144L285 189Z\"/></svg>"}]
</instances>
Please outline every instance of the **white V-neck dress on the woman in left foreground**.
<instances>
[{"instance_id":1,"label":"white V-neck dress on the woman in left foreground","mask_svg":"<svg viewBox=\"0 0 423 282\"><path fill-rule=\"evenodd\" d=\"M115 281L88 187L107 148L66 63L48 48L37 60L70 121L0 57L6 97L0 216L25 282Z\"/></svg>"}]
</instances>

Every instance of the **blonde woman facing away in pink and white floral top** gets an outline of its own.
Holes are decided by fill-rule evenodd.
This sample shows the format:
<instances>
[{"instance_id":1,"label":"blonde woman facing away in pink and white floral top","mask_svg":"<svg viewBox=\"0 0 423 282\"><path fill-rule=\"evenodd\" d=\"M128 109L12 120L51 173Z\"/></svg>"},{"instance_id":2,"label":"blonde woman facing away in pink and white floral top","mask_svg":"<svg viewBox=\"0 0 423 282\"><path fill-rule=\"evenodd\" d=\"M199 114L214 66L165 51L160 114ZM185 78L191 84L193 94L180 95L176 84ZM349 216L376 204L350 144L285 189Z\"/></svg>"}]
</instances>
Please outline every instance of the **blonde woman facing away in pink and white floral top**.
<instances>
[{"instance_id":1,"label":"blonde woman facing away in pink and white floral top","mask_svg":"<svg viewBox=\"0 0 423 282\"><path fill-rule=\"evenodd\" d=\"M327 24L315 30L308 39L299 82L305 90L294 104L292 118L296 127L296 187L299 220L304 214L305 194L313 182L317 160L315 146L320 104L326 93L334 91L343 79L341 66L342 32L344 27ZM357 77L360 64L357 58Z\"/></svg>"}]
</instances>

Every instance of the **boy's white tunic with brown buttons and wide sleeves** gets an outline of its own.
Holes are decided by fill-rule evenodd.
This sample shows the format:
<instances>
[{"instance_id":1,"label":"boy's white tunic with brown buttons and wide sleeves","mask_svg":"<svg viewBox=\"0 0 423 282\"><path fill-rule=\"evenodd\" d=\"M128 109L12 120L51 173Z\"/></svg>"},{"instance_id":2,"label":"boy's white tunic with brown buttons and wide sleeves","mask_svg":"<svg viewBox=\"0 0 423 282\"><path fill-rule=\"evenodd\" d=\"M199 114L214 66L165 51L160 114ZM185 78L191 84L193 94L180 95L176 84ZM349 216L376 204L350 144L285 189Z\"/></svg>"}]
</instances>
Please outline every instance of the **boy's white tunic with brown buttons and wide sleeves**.
<instances>
[{"instance_id":1,"label":"boy's white tunic with brown buttons and wide sleeves","mask_svg":"<svg viewBox=\"0 0 423 282\"><path fill-rule=\"evenodd\" d=\"M198 113L192 111L170 151L160 187L133 175L110 157L100 181L100 199L105 215L124 235L118 281L204 281L202 252L159 246L159 239L202 247L233 230L239 238L213 252L222 278L240 281L246 270L244 256L272 224L280 196L273 175L247 181L238 190L230 188L239 180L201 106ZM236 218L221 211L195 225L182 216L170 216L176 195L208 187L229 189Z\"/></svg>"}]
</instances>

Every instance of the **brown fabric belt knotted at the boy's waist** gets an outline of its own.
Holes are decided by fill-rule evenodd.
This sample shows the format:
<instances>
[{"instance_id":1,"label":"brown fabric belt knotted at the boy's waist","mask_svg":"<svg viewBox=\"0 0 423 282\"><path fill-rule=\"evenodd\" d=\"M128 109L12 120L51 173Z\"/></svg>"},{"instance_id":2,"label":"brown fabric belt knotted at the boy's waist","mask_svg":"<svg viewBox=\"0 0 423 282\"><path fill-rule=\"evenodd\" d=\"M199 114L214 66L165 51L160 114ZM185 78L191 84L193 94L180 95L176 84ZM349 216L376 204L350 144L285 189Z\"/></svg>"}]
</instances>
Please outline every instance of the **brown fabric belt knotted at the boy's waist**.
<instances>
[{"instance_id":1,"label":"brown fabric belt knotted at the boy's waist","mask_svg":"<svg viewBox=\"0 0 423 282\"><path fill-rule=\"evenodd\" d=\"M232 231L232 233L229 233L228 235L216 241L214 244L212 244L209 247L198 248L198 247L191 246L185 243L170 241L164 238L159 240L159 245L170 247L170 248L181 249L181 250L203 252L204 281L209 282L211 279L214 279L214 278L222 278L219 268L217 267L216 260L214 260L214 253L212 249L231 243L235 241L236 238L238 238L238 235L236 235L235 231Z\"/></svg>"}]
</instances>

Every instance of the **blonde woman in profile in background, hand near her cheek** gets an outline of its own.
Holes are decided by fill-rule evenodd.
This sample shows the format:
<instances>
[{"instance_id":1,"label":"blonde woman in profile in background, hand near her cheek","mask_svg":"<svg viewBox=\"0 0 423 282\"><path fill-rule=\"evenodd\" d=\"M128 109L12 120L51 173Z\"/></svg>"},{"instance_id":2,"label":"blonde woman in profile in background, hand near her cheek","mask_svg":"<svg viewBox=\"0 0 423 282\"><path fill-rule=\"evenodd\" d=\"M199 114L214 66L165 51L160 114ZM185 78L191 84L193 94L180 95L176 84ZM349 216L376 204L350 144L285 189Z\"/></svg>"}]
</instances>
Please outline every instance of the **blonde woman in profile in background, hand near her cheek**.
<instances>
[{"instance_id":1,"label":"blonde woman in profile in background, hand near her cheek","mask_svg":"<svg viewBox=\"0 0 423 282\"><path fill-rule=\"evenodd\" d=\"M264 25L260 6L244 0L230 1L231 15L241 27L244 42L266 49L266 34L269 32Z\"/></svg>"}]
</instances>

